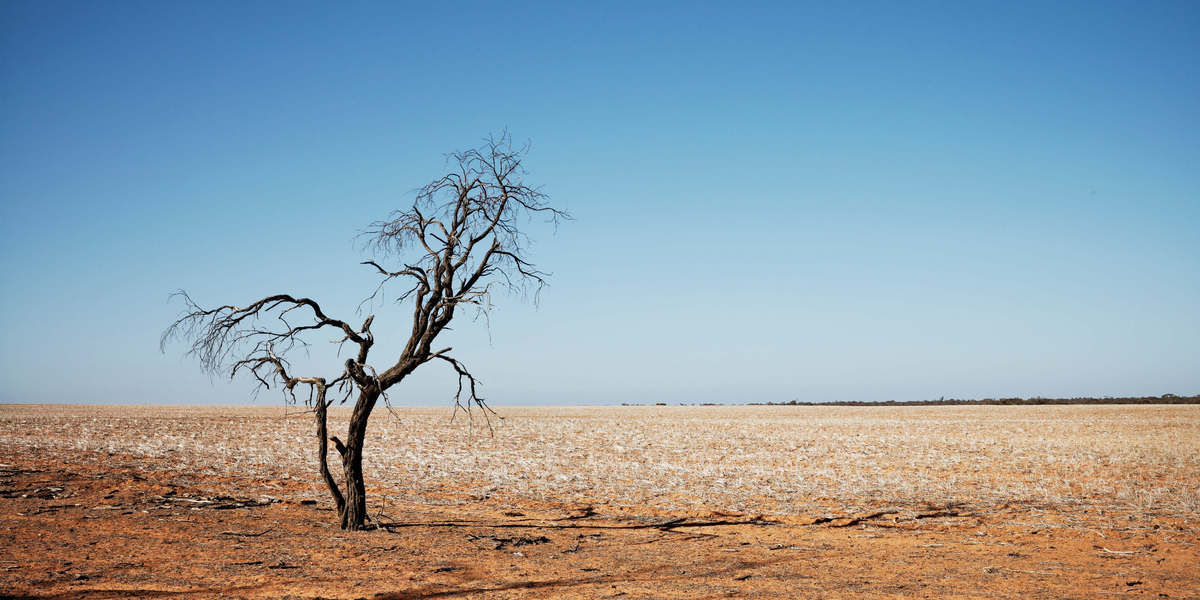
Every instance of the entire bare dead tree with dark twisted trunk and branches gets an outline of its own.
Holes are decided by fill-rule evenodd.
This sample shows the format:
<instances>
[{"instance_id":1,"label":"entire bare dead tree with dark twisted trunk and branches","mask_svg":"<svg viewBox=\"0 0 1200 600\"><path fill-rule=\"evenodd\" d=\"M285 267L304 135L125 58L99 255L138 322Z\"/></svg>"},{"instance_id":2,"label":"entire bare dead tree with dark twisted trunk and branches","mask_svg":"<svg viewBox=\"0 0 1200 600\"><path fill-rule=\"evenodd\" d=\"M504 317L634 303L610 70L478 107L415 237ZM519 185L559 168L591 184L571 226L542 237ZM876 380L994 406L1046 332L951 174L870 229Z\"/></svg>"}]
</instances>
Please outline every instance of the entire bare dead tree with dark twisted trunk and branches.
<instances>
[{"instance_id":1,"label":"entire bare dead tree with dark twisted trunk and branches","mask_svg":"<svg viewBox=\"0 0 1200 600\"><path fill-rule=\"evenodd\" d=\"M557 223L570 218L552 208L538 188L523 182L521 162L527 148L515 149L508 134L488 139L482 146L449 156L450 173L419 190L412 208L392 212L372 223L364 234L377 260L362 264L380 281L367 296L373 300L389 283L402 283L397 304L412 305L412 330L398 358L389 358L384 368L368 362L376 334L374 314L358 328L325 313L317 301L276 294L244 306L204 308L186 292L179 292L186 307L163 332L162 347L182 338L191 343L188 355L212 373L248 373L256 384L281 386L295 400L295 388L307 386L317 420L317 456L320 476L337 508L343 529L367 527L366 492L362 481L362 452L367 422L380 397L418 367L439 361L455 371L457 408L472 406L490 410L479 396L475 377L451 348L434 349L434 342L461 310L487 311L498 288L534 294L546 283L547 274L526 259L523 224L530 217ZM385 266L389 260L395 264ZM340 365L336 377L301 377L290 371L288 353L306 347L305 336L324 331L334 341L356 348L354 356ZM337 397L330 397L330 391ZM330 437L326 410L352 396L346 440ZM334 443L342 464L342 484L330 473L326 458Z\"/></svg>"}]
</instances>

